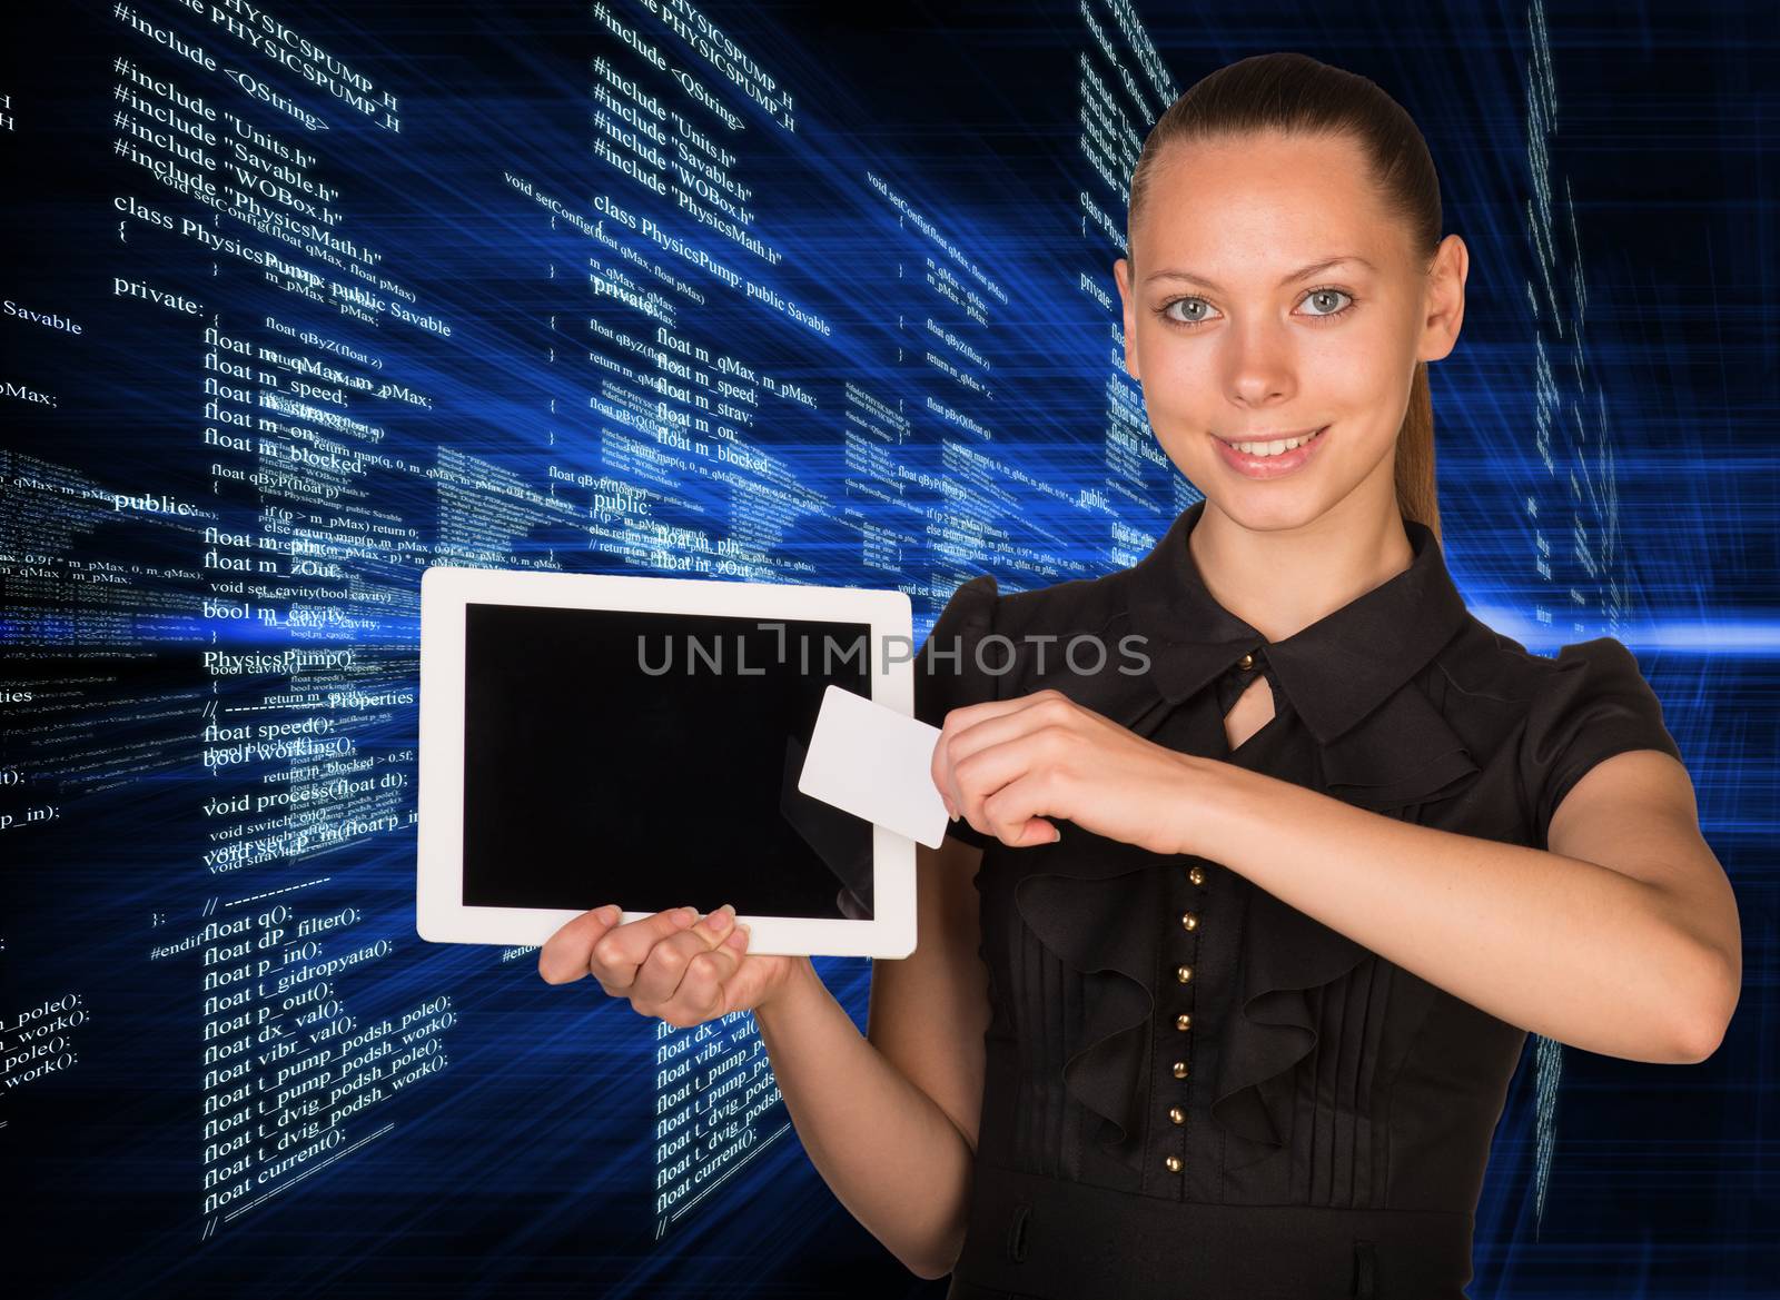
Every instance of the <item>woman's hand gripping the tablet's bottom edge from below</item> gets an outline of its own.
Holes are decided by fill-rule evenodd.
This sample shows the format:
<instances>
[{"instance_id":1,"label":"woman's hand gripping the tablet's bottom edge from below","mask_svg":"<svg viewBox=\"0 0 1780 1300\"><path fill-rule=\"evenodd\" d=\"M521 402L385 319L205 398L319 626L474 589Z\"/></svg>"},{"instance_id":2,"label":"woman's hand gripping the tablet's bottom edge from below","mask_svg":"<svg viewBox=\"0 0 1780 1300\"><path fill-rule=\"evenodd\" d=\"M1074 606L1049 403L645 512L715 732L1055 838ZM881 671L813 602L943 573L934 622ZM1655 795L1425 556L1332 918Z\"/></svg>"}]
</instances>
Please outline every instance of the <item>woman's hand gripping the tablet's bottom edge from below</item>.
<instances>
[{"instance_id":1,"label":"woman's hand gripping the tablet's bottom edge from below","mask_svg":"<svg viewBox=\"0 0 1780 1300\"><path fill-rule=\"evenodd\" d=\"M808 957L749 953L748 927L724 903L703 919L692 907L671 907L619 923L616 905L582 912L538 953L545 983L573 983L584 975L612 998L628 998L639 1015L678 1028L751 1010L789 983Z\"/></svg>"}]
</instances>

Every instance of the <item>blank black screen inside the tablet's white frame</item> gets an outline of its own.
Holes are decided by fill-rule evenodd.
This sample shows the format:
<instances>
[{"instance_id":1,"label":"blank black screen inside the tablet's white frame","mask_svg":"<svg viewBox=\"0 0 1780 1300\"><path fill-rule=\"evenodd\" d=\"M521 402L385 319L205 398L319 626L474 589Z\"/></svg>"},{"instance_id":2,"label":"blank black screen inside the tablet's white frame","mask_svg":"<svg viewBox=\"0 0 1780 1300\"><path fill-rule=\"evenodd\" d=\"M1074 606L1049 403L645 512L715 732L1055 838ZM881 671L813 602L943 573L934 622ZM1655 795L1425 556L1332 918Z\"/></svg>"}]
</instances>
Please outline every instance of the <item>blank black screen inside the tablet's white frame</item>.
<instances>
[{"instance_id":1,"label":"blank black screen inside the tablet's white frame","mask_svg":"<svg viewBox=\"0 0 1780 1300\"><path fill-rule=\"evenodd\" d=\"M872 825L797 791L863 622L465 610L463 902L869 919Z\"/></svg>"}]
</instances>

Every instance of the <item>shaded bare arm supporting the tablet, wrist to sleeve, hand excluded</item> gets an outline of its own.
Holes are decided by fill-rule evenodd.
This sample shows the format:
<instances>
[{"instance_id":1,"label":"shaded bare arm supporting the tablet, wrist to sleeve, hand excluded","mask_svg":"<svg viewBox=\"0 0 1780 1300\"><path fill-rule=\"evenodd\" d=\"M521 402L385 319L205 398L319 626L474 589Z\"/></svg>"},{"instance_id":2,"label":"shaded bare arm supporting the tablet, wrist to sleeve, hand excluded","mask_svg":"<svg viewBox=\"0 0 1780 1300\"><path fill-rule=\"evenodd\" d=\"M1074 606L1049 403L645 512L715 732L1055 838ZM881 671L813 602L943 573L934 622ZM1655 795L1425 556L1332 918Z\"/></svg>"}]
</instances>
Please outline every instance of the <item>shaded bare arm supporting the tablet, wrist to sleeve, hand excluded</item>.
<instances>
[{"instance_id":1,"label":"shaded bare arm supporting the tablet, wrist to sleeve, hand excluded","mask_svg":"<svg viewBox=\"0 0 1780 1300\"><path fill-rule=\"evenodd\" d=\"M983 852L952 838L915 852L917 946L872 964L865 1037L808 960L755 1023L817 1172L931 1279L963 1245L990 1008L972 884Z\"/></svg>"}]
</instances>

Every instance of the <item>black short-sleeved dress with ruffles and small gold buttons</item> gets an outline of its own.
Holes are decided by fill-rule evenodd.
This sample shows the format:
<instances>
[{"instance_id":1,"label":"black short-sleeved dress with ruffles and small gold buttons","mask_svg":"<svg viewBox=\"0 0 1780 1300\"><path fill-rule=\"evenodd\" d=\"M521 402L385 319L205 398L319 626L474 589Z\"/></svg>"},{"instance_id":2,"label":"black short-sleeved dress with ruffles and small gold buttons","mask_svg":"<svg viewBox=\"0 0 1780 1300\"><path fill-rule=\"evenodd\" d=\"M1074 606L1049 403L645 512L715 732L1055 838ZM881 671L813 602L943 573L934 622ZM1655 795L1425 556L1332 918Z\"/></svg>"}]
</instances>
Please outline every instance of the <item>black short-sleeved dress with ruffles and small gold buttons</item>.
<instances>
[{"instance_id":1,"label":"black short-sleeved dress with ruffles and small gold buttons","mask_svg":"<svg viewBox=\"0 0 1780 1300\"><path fill-rule=\"evenodd\" d=\"M1536 848L1600 759L1680 758L1625 646L1552 660L1497 635L1413 519L1408 569L1269 644L1200 580L1203 509L1102 578L963 583L917 715L1054 686L1169 749ZM1232 752L1257 672L1274 717ZM951 829L984 850L991 1023L949 1296L1461 1298L1525 1030L1219 863L1059 829L1036 848Z\"/></svg>"}]
</instances>

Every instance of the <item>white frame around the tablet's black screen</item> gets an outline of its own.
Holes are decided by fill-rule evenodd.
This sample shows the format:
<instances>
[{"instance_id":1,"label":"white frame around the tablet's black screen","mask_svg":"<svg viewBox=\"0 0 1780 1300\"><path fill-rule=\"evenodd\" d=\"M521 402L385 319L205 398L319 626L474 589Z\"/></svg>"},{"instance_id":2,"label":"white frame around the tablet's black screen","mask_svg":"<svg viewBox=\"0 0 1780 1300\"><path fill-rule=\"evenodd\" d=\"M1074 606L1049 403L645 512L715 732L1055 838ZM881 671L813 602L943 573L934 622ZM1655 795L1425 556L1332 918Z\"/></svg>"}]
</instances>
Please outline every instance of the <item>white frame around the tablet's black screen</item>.
<instances>
[{"instance_id":1,"label":"white frame around the tablet's black screen","mask_svg":"<svg viewBox=\"0 0 1780 1300\"><path fill-rule=\"evenodd\" d=\"M762 621L870 626L870 688L913 717L913 610L906 592L860 587L646 578L431 566L420 574L420 823L415 930L429 943L543 944L577 911L466 907L463 902L465 606L723 614ZM901 640L897 640L901 638ZM915 951L915 841L872 827L872 919L740 914L749 951L885 957ZM625 903L623 898L595 900ZM723 898L685 898L705 912ZM625 912L635 921L650 912Z\"/></svg>"}]
</instances>

